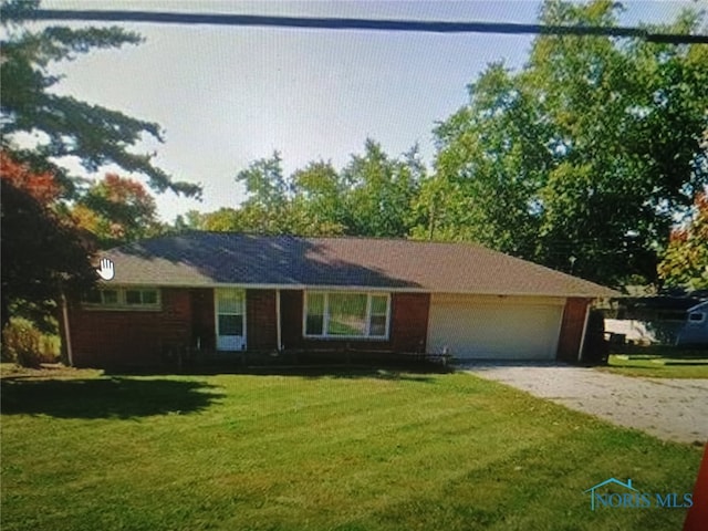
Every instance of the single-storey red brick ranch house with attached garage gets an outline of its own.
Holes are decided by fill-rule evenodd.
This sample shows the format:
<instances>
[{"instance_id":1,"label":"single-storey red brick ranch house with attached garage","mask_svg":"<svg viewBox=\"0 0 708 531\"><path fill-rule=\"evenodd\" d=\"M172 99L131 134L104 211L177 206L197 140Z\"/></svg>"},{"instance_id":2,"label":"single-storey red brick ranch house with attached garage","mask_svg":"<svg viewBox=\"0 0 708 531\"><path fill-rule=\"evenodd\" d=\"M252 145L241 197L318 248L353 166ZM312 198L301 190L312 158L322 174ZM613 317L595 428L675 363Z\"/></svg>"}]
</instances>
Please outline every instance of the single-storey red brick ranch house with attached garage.
<instances>
[{"instance_id":1,"label":"single-storey red brick ranch house with attached garage","mask_svg":"<svg viewBox=\"0 0 708 531\"><path fill-rule=\"evenodd\" d=\"M65 312L79 366L174 348L576 361L590 302L617 294L467 243L188 232L101 258L115 278Z\"/></svg>"}]
</instances>

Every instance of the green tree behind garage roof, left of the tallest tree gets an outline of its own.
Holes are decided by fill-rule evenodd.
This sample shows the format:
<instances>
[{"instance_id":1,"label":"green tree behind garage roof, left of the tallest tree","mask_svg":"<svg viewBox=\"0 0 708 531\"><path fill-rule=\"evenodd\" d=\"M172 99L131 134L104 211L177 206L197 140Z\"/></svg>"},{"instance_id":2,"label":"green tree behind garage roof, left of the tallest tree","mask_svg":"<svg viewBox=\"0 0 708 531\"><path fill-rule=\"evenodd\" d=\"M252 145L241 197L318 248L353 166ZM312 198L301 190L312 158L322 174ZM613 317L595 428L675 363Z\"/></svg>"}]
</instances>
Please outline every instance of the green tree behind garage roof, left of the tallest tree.
<instances>
[{"instance_id":1,"label":"green tree behind garage roof, left of the tallest tree","mask_svg":"<svg viewBox=\"0 0 708 531\"><path fill-rule=\"evenodd\" d=\"M470 102L435 134L435 176L416 208L417 238L473 240L524 258L535 252L539 190L553 155L537 98L500 63L469 85Z\"/></svg>"}]
</instances>

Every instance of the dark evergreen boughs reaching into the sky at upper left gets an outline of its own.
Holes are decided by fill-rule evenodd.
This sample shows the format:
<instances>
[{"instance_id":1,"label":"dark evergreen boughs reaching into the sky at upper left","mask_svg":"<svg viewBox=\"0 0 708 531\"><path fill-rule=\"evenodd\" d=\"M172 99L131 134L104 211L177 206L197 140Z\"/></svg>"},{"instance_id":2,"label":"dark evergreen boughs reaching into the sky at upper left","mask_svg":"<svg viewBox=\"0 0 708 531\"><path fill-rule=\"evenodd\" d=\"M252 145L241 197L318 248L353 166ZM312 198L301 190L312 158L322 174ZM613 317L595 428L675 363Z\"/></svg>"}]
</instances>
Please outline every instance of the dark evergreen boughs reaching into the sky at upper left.
<instances>
[{"instance_id":1,"label":"dark evergreen boughs reaching into the sky at upper left","mask_svg":"<svg viewBox=\"0 0 708 531\"><path fill-rule=\"evenodd\" d=\"M171 189L197 196L200 187L174 181L153 164L153 155L129 148L145 136L163 142L159 125L135 119L118 111L81 102L52 92L61 76L49 72L51 63L72 61L100 49L138 44L142 38L121 28L72 29L46 25L31 31L27 21L39 0L6 0L1 4L3 39L0 44L0 111L2 147L35 169L51 169L64 176L58 162L76 157L90 171L114 164L127 173L147 177L158 190ZM20 134L31 134L34 145L17 143ZM25 139L28 135L24 136ZM66 184L66 183L65 183Z\"/></svg>"}]
</instances>

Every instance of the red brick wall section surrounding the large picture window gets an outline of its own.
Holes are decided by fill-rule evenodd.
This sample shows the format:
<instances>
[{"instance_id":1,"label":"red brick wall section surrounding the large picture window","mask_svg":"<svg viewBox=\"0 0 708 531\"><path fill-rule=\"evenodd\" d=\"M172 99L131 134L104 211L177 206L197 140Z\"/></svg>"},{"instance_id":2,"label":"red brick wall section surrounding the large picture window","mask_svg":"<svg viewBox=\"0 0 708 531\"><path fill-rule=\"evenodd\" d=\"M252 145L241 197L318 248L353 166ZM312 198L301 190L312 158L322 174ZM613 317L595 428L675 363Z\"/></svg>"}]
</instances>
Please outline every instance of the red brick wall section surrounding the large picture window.
<instances>
[{"instance_id":1,"label":"red brick wall section surrounding the large picture window","mask_svg":"<svg viewBox=\"0 0 708 531\"><path fill-rule=\"evenodd\" d=\"M424 352L428 327L430 295L427 293L393 293L391 334L386 341L377 340L315 340L302 336L303 292L282 290L280 308L282 342L288 348L343 348ZM250 342L249 342L250 343ZM250 346L250 345L249 345Z\"/></svg>"}]
</instances>

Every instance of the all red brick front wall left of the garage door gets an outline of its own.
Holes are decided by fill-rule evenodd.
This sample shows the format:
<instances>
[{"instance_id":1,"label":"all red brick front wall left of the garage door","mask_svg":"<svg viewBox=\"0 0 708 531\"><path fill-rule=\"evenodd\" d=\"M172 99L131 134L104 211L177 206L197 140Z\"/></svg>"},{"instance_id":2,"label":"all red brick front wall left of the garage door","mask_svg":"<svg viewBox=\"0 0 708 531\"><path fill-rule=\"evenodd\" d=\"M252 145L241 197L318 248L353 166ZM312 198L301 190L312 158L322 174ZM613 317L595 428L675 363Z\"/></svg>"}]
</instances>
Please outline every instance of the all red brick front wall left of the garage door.
<instances>
[{"instance_id":1,"label":"all red brick front wall left of the garage door","mask_svg":"<svg viewBox=\"0 0 708 531\"><path fill-rule=\"evenodd\" d=\"M212 289L162 289L159 311L88 310L70 304L73 362L82 367L150 366L169 348L216 347ZM342 348L419 352L425 350L430 296L392 295L391 337L376 340L305 340L303 292L281 291L282 343L285 348ZM277 348L275 291L247 290L249 351Z\"/></svg>"}]
</instances>

